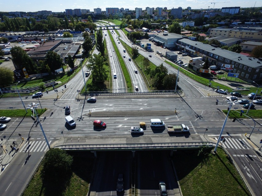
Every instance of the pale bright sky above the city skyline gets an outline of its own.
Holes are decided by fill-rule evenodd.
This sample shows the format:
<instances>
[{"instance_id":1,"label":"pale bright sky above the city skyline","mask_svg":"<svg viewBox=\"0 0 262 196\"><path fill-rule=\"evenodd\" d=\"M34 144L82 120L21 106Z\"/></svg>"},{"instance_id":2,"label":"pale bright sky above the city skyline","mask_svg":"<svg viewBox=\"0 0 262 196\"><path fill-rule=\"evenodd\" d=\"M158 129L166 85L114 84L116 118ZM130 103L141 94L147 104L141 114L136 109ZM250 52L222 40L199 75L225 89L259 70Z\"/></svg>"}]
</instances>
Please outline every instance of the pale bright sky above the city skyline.
<instances>
[{"instance_id":1,"label":"pale bright sky above the city skyline","mask_svg":"<svg viewBox=\"0 0 262 196\"><path fill-rule=\"evenodd\" d=\"M211 4L212 2L217 2ZM256 5L255 5L256 3ZM111 8L128 8L129 10L135 10L135 8L142 8L145 10L146 7L167 7L167 9L182 7L183 9L191 7L191 9L212 9L222 7L261 7L262 1L204 1L204 0L1 0L0 11L3 12L36 12L41 10L47 10L52 12L64 12L65 9L87 9L94 11L94 8L101 8L105 11L106 7Z\"/></svg>"}]
</instances>

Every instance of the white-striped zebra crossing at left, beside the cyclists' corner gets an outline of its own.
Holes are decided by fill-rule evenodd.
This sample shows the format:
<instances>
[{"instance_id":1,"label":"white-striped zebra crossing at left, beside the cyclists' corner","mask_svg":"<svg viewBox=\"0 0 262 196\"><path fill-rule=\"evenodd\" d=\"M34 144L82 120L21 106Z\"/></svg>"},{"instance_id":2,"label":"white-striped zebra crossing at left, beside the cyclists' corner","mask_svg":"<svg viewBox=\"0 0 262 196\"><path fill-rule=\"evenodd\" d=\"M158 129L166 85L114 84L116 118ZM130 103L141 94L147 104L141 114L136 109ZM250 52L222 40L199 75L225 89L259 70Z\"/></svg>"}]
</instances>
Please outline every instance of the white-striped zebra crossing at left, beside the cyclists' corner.
<instances>
[{"instance_id":1,"label":"white-striped zebra crossing at left, beside the cyclists' corner","mask_svg":"<svg viewBox=\"0 0 262 196\"><path fill-rule=\"evenodd\" d=\"M49 141L49 145L52 140ZM48 150L48 145L46 141L30 141L29 144L26 143L18 152L46 152Z\"/></svg>"}]
</instances>

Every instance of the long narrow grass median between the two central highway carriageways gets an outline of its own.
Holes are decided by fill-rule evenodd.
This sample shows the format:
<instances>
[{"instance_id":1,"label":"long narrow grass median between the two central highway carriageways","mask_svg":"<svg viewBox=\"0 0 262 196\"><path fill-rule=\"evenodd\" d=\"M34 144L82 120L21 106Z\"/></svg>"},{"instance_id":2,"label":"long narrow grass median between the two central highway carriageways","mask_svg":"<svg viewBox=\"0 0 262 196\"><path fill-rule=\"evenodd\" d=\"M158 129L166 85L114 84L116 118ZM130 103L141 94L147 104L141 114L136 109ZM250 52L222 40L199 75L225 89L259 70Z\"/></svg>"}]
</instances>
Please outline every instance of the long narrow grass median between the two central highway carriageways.
<instances>
[{"instance_id":1,"label":"long narrow grass median between the two central highway carriageways","mask_svg":"<svg viewBox=\"0 0 262 196\"><path fill-rule=\"evenodd\" d=\"M127 87L127 90L131 90L131 92L133 92L133 85L132 85L132 80L130 78L130 75L129 75L129 72L126 68L126 65L125 65L125 62L123 60L123 57L122 55L120 54L118 48L117 48L117 45L115 43L115 41L113 40L113 37L110 33L109 30L107 30L107 33L112 41L112 44L113 44L113 47L114 47L114 50L115 50L115 53L117 54L117 58L118 58L118 61L120 63L120 66L122 68L122 71L123 71L123 75L124 75L124 78L125 78L125 83L126 83L126 87ZM117 43L118 44L118 43Z\"/></svg>"}]
</instances>

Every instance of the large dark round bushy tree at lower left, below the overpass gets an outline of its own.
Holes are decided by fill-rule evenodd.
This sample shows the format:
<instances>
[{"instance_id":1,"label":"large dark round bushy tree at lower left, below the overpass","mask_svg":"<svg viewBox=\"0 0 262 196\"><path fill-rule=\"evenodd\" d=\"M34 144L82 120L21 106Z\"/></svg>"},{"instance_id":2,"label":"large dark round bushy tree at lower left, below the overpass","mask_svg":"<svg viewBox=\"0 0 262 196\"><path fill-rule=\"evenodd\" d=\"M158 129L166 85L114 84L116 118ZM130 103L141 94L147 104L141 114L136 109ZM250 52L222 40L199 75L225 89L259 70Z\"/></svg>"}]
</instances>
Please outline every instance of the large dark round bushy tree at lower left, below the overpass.
<instances>
[{"instance_id":1,"label":"large dark round bushy tree at lower left, below the overpass","mask_svg":"<svg viewBox=\"0 0 262 196\"><path fill-rule=\"evenodd\" d=\"M45 195L61 195L72 176L73 157L65 150L51 148L42 161L42 182Z\"/></svg>"}]
</instances>

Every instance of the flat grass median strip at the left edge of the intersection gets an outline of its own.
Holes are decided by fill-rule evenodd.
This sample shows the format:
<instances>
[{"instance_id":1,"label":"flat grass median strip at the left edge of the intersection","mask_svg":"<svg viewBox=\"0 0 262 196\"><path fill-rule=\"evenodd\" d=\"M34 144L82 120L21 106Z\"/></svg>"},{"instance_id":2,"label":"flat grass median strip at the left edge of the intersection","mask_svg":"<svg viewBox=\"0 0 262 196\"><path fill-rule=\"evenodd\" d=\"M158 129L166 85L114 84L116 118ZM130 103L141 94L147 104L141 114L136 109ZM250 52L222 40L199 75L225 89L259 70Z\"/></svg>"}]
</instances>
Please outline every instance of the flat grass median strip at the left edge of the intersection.
<instances>
[{"instance_id":1,"label":"flat grass median strip at the left edge of the intersection","mask_svg":"<svg viewBox=\"0 0 262 196\"><path fill-rule=\"evenodd\" d=\"M39 106L37 111L38 115L41 116L43 113L46 112L46 108L41 109ZM0 116L6 116L6 117L31 117L31 112L30 109L27 109L27 113L25 109L14 109L14 110L0 110ZM36 118L36 115L34 115Z\"/></svg>"}]
</instances>

